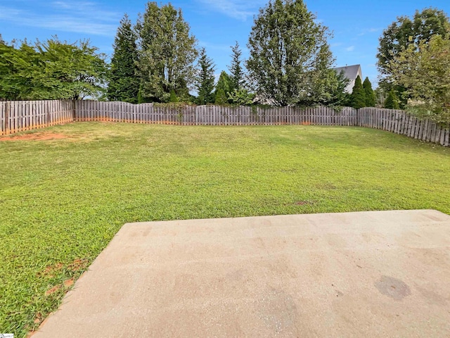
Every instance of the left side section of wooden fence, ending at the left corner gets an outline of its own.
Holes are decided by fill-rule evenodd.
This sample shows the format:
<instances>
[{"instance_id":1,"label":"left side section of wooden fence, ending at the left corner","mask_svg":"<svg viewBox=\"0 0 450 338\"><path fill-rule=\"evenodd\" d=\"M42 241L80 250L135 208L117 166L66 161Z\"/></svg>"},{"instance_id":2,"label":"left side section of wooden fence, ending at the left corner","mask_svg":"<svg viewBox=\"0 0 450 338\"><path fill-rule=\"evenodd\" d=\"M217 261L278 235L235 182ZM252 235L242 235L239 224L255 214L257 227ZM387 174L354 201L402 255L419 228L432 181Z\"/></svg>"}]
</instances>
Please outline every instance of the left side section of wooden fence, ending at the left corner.
<instances>
[{"instance_id":1,"label":"left side section of wooden fence, ending at the left corner","mask_svg":"<svg viewBox=\"0 0 450 338\"><path fill-rule=\"evenodd\" d=\"M72 101L1 101L0 134L13 134L75 120Z\"/></svg>"}]
</instances>

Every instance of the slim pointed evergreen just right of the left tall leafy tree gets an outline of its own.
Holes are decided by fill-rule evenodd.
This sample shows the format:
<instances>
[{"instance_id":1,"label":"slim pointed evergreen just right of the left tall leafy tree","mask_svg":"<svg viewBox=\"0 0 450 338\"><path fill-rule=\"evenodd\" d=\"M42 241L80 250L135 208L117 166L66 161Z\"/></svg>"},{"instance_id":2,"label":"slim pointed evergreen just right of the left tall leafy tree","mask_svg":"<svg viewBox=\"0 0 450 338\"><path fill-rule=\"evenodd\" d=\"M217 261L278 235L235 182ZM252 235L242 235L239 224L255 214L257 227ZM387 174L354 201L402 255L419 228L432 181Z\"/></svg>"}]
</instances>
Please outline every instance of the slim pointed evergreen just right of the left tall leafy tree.
<instances>
[{"instance_id":1,"label":"slim pointed evergreen just right of the left tall leafy tree","mask_svg":"<svg viewBox=\"0 0 450 338\"><path fill-rule=\"evenodd\" d=\"M197 104L214 103L214 63L206 55L205 48L200 49L194 86L197 89Z\"/></svg>"}]
</instances>

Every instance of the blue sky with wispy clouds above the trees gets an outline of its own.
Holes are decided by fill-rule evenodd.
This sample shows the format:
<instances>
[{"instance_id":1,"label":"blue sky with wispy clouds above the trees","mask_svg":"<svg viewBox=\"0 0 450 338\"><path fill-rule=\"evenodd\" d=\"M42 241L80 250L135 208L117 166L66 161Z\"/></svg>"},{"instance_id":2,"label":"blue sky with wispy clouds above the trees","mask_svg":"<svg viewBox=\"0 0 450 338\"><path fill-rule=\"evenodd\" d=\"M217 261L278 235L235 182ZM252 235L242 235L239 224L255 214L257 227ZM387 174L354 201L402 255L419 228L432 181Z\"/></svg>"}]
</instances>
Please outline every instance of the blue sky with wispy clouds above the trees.
<instances>
[{"instance_id":1,"label":"blue sky with wispy clouds above the trees","mask_svg":"<svg viewBox=\"0 0 450 338\"><path fill-rule=\"evenodd\" d=\"M168 1L158 1L165 4ZM226 70L230 46L236 41L248 55L246 44L253 16L268 0L174 0L181 8L191 32L216 64L216 73ZM361 64L363 77L377 82L375 67L378 37L399 15L436 7L450 14L449 0L335 1L307 0L309 11L333 32L330 46L335 65ZM119 21L128 13L133 22L145 9L143 0L0 0L0 34L11 39L60 39L75 42L90 39L105 54L113 53Z\"/></svg>"}]
</instances>

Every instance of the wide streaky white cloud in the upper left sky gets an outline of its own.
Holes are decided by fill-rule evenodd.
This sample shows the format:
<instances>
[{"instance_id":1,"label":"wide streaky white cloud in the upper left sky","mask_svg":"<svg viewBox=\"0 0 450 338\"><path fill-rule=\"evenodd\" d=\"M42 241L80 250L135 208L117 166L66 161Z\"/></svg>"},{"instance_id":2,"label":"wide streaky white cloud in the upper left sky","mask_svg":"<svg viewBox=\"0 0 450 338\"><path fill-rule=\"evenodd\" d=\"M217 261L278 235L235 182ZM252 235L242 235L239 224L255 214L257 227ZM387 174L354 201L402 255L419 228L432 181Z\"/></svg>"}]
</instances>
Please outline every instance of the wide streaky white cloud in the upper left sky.
<instances>
[{"instance_id":1,"label":"wide streaky white cloud in the upper left sky","mask_svg":"<svg viewBox=\"0 0 450 338\"><path fill-rule=\"evenodd\" d=\"M53 1L41 6L40 13L0 6L0 18L11 23L63 32L114 36L122 17L105 11L94 2Z\"/></svg>"}]
</instances>

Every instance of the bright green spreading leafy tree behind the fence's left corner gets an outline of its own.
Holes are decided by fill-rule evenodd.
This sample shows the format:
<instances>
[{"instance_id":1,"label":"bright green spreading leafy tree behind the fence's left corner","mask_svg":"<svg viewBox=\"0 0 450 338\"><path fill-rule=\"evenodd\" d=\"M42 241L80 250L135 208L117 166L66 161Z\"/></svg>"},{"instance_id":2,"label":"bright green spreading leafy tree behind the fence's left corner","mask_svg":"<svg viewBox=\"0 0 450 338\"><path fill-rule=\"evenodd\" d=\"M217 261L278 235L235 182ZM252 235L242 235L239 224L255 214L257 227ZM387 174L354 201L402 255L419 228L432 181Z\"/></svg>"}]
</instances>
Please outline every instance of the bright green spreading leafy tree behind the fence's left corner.
<instances>
[{"instance_id":1,"label":"bright green spreading leafy tree behind the fence's left corner","mask_svg":"<svg viewBox=\"0 0 450 338\"><path fill-rule=\"evenodd\" d=\"M89 41L58 38L20 48L0 44L0 97L10 100L99 98L108 67Z\"/></svg>"}]
</instances>

